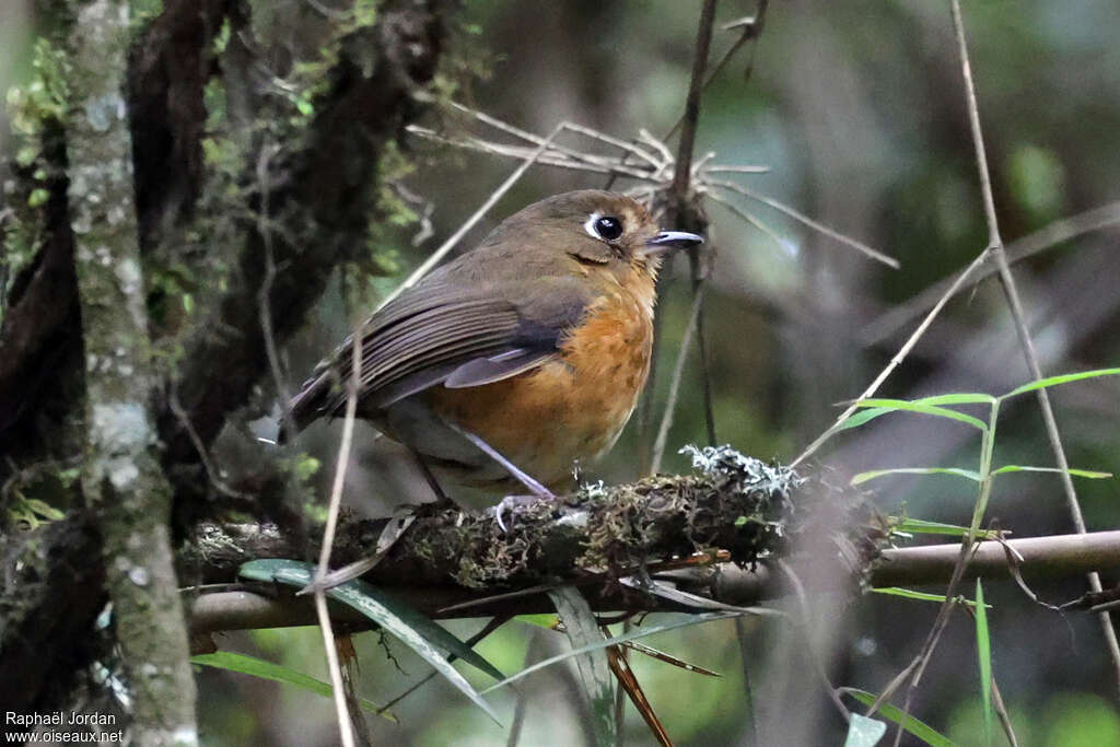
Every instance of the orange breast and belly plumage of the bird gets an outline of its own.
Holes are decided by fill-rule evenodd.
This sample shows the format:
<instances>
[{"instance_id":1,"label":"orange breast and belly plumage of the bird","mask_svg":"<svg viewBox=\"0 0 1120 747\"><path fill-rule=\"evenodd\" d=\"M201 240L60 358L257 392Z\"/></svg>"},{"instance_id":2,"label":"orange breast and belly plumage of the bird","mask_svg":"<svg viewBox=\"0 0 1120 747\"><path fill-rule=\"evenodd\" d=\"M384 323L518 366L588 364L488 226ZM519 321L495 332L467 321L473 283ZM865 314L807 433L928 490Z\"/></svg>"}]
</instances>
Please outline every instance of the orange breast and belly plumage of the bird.
<instances>
[{"instance_id":1,"label":"orange breast and belly plumage of the bird","mask_svg":"<svg viewBox=\"0 0 1120 747\"><path fill-rule=\"evenodd\" d=\"M429 390L429 403L545 485L566 486L576 459L614 446L650 373L653 288L620 286L592 304L554 358L470 389Z\"/></svg>"}]
</instances>

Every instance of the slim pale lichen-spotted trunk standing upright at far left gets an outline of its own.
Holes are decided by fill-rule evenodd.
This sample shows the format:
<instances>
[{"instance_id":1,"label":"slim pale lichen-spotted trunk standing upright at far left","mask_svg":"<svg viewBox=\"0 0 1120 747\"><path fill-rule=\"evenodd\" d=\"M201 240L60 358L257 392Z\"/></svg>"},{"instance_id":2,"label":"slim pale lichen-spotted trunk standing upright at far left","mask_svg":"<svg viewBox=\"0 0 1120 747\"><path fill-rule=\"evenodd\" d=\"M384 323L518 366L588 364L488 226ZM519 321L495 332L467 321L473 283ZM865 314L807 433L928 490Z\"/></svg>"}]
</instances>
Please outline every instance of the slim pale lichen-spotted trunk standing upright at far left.
<instances>
[{"instance_id":1,"label":"slim pale lichen-spotted trunk standing upright at far left","mask_svg":"<svg viewBox=\"0 0 1120 747\"><path fill-rule=\"evenodd\" d=\"M67 108L71 227L85 348L82 491L96 511L116 644L141 745L197 745L152 413L158 387L132 189L124 102L127 0L80 8L69 36Z\"/></svg>"}]
</instances>

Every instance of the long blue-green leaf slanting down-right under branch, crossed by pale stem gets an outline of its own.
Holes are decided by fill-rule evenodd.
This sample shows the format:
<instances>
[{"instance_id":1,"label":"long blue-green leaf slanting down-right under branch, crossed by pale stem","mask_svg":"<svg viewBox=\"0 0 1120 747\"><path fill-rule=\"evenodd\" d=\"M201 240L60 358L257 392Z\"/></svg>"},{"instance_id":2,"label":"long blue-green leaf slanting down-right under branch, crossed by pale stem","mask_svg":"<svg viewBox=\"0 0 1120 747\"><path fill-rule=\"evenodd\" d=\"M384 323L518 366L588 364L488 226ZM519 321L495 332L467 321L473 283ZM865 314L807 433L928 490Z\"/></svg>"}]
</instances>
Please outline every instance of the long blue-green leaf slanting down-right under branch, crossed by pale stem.
<instances>
[{"instance_id":1,"label":"long blue-green leaf slanting down-right under branch, crossed by pale stem","mask_svg":"<svg viewBox=\"0 0 1120 747\"><path fill-rule=\"evenodd\" d=\"M298 560L252 560L244 563L239 569L239 573L258 581L277 581L301 589L310 583L315 577L315 566ZM435 666L451 684L458 688L460 692L497 722L497 716L495 716L489 703L482 699L475 689L470 687L470 683L446 659L448 654L455 654L494 679L502 679L502 673L493 664L479 656L478 652L467 646L404 601L374 588L365 581L358 579L346 581L329 589L326 596L353 607L393 634L429 664Z\"/></svg>"}]
</instances>

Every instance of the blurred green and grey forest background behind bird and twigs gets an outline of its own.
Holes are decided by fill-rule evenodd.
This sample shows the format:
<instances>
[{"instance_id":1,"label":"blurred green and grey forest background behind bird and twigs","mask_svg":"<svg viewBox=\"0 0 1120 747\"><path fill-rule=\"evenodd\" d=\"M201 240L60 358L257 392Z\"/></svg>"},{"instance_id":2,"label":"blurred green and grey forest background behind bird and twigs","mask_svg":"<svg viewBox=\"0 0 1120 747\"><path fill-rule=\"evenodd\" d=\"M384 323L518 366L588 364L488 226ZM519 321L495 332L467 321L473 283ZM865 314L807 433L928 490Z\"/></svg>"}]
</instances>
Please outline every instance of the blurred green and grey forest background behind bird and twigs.
<instances>
[{"instance_id":1,"label":"blurred green and grey forest background behind bird and twigs","mask_svg":"<svg viewBox=\"0 0 1120 747\"><path fill-rule=\"evenodd\" d=\"M312 3L268 4L276 18L290 18ZM638 128L664 133L682 110L699 8L698 0L467 0L456 17L461 25L458 58L483 74L460 84L454 95L542 134L561 120L619 138L634 137ZM753 12L753 2L725 0L717 24ZM1120 199L1120 4L986 0L965 2L964 13L1005 240ZM0 3L4 87L26 75L31 24L25 2ZM289 25L283 32L296 38L300 29ZM713 55L735 38L735 31L717 31ZM402 272L514 168L507 160L419 140L410 144L404 155L414 170L402 183L435 206L435 237L413 246L411 231L379 232L386 244L379 253L392 254ZM754 52L749 46L740 52L704 94L698 155L709 150L724 164L768 166L768 174L736 178L902 262L897 271L884 268L769 208L740 202L773 226L778 243L708 204L711 246L718 253L707 304L718 440L790 461L836 418L836 403L856 396L916 324L885 325L884 315L965 267L987 241L948 3L772 3ZM601 186L599 177L535 168L463 246L540 197ZM1120 365L1118 237L1116 227L1107 228L1015 267L1048 374ZM679 259L669 276L660 307L660 375L648 393L657 417L691 300L687 262ZM399 278L380 279L375 290L383 292ZM330 295L291 345L293 379L346 333L339 299L339 293ZM1028 379L1001 290L989 279L950 302L881 394L998 394ZM1071 464L1120 473L1120 382L1062 387L1053 400ZM361 433L366 441L372 437L368 430ZM702 442L703 433L699 368L692 360L663 468L685 469L683 457L673 452ZM330 464L337 436L337 426L319 427L307 448ZM632 423L613 455L589 467L589 475L632 479L636 451ZM977 455L967 429L895 414L837 438L811 468L832 470L843 482L865 469L894 466L973 468ZM1020 398L1004 414L996 459L1053 464L1033 399ZM355 461L351 489L375 489L374 473L386 468L384 460L360 446ZM942 477L887 479L876 485L876 501L885 512L968 523L973 495L962 485ZM1117 482L1077 487L1090 529L1114 527L1120 519ZM1002 478L989 520L1015 536L1071 531L1058 480L1046 475ZM1105 586L1116 581L1104 580ZM1035 589L1044 599L1062 603L1082 594L1084 585L1066 579ZM995 674L1019 744L1120 744L1118 683L1095 620L1046 611L1011 583L991 583L987 591L993 605ZM822 595L811 606L812 635L832 681L872 692L908 662L936 613L928 603L879 595L858 600ZM457 620L449 627L467 636L480 625ZM392 641L364 634L357 642L360 691L376 702L427 674L420 660ZM758 744L840 744L843 725L814 679L803 638L780 624L747 620L737 631L734 622L719 622L650 643L724 674L709 679L632 659L678 744L749 744L745 669ZM321 638L312 628L234 634L222 645L326 679ZM561 636L511 623L480 651L513 672L526 655L539 659L562 645ZM469 670L465 674L476 676ZM473 681L486 684L480 678ZM587 740L577 682L570 671L554 667L523 683L520 744ZM213 671L203 671L199 684L206 744L329 745L336 739L326 699ZM493 702L508 727L516 694L506 689ZM368 718L379 744L482 746L507 738L507 731L439 679L393 710L399 725ZM653 744L633 709L626 712L627 743ZM937 650L915 715L960 744L982 740L974 638L963 615Z\"/></svg>"}]
</instances>

